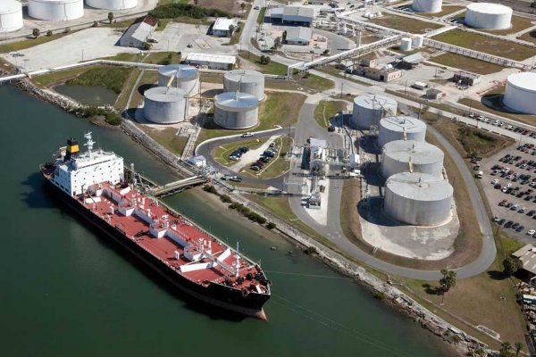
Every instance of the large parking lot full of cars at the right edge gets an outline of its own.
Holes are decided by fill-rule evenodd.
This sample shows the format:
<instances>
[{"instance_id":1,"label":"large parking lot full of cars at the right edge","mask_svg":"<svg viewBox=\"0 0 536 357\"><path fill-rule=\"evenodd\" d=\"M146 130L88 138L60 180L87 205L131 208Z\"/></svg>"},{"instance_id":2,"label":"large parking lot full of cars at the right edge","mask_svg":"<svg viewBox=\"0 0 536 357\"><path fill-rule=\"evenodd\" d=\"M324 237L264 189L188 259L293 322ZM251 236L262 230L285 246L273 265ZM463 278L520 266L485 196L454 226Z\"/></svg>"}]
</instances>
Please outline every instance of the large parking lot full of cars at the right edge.
<instances>
[{"instance_id":1,"label":"large parking lot full of cars at the right edge","mask_svg":"<svg viewBox=\"0 0 536 357\"><path fill-rule=\"evenodd\" d=\"M473 169L483 172L482 187L497 217L495 224L532 243L536 238L531 231L536 229L536 147L512 145Z\"/></svg>"}]
</instances>

